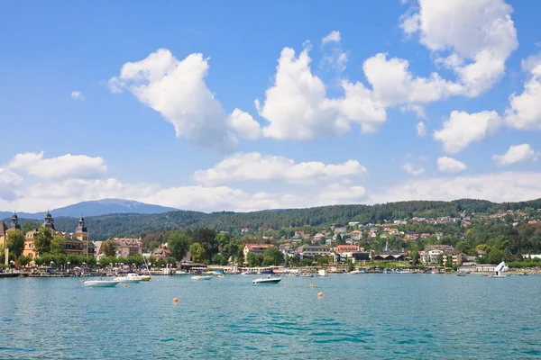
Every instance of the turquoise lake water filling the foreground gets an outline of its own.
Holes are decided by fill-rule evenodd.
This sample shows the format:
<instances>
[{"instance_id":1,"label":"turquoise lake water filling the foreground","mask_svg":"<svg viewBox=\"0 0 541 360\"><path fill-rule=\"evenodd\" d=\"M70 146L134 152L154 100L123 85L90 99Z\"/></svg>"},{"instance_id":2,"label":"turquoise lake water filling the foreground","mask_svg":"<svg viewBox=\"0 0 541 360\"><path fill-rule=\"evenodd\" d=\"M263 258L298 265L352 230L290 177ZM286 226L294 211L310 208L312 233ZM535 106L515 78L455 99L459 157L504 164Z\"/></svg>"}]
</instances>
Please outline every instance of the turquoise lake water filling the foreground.
<instances>
[{"instance_id":1,"label":"turquoise lake water filling the foreground","mask_svg":"<svg viewBox=\"0 0 541 360\"><path fill-rule=\"evenodd\" d=\"M163 276L111 289L0 279L0 358L541 356L541 276L253 278Z\"/></svg>"}]
</instances>

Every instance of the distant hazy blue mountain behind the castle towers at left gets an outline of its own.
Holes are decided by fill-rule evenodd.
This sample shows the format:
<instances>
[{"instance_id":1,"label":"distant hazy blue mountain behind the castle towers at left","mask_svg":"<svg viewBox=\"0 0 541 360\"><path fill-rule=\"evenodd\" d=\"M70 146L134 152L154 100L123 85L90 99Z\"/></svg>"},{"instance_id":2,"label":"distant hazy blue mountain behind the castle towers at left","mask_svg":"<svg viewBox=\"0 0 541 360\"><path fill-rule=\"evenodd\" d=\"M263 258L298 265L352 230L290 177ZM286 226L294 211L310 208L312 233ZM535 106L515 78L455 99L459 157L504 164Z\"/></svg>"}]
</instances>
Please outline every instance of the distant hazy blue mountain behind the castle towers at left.
<instances>
[{"instance_id":1,"label":"distant hazy blue mountain behind the castle towers at left","mask_svg":"<svg viewBox=\"0 0 541 360\"><path fill-rule=\"evenodd\" d=\"M104 199L92 202L78 202L63 208L51 210L52 216L78 218L83 214L85 217L100 216L111 213L163 213L167 211L177 211L178 209L168 208L160 205L152 205L143 202L134 202L121 199ZM11 218L13 212L0 211L0 219ZM21 219L42 220L45 217L45 211L28 213L18 212Z\"/></svg>"}]
</instances>

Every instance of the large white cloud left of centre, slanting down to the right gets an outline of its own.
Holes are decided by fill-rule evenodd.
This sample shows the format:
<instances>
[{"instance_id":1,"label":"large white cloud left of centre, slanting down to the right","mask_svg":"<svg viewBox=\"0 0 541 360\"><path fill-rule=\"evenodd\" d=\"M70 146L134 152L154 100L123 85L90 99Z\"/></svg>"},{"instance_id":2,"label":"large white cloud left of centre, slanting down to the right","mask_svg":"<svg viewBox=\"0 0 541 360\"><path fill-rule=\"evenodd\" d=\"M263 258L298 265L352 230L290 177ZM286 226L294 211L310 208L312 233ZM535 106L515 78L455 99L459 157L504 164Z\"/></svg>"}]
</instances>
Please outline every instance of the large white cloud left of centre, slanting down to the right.
<instances>
[{"instance_id":1,"label":"large white cloud left of centre, slanting down to the right","mask_svg":"<svg viewBox=\"0 0 541 360\"><path fill-rule=\"evenodd\" d=\"M170 50L159 49L141 61L125 63L120 75L109 80L109 86L114 93L127 89L160 112L173 125L177 137L198 146L230 151L237 139L227 127L221 103L206 87L207 73L208 59L203 55L190 54L179 61ZM238 121L229 123L236 126Z\"/></svg>"}]
</instances>

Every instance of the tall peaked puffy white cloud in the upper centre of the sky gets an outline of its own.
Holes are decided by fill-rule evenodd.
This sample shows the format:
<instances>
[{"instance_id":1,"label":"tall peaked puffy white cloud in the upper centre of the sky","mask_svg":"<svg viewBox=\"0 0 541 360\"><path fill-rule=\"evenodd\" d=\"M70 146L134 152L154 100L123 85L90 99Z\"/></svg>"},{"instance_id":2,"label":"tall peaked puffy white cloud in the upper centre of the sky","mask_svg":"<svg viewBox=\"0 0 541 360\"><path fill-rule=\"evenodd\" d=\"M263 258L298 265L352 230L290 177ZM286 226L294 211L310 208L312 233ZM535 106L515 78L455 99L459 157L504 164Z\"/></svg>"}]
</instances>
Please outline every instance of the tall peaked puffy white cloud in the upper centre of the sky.
<instances>
[{"instance_id":1,"label":"tall peaked puffy white cloud in the upper centre of the sky","mask_svg":"<svg viewBox=\"0 0 541 360\"><path fill-rule=\"evenodd\" d=\"M349 130L351 121L363 131L373 131L386 120L385 107L361 83L344 81L344 97L327 98L326 85L310 69L308 50L297 57L294 49L284 48L264 104L255 101L261 117L269 121L263 128L265 137L307 140L340 135Z\"/></svg>"}]
</instances>

